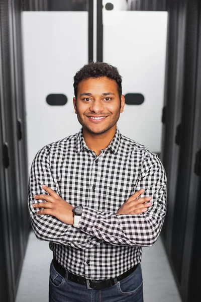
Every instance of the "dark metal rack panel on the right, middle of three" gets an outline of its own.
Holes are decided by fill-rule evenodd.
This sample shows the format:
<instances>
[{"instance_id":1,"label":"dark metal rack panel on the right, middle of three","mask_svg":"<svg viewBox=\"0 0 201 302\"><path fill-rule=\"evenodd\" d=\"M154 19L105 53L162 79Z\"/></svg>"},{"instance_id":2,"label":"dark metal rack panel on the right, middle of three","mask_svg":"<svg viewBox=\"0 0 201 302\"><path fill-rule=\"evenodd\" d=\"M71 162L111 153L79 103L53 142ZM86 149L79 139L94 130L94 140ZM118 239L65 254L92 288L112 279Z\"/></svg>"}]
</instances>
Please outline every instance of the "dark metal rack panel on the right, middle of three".
<instances>
[{"instance_id":1,"label":"dark metal rack panel on the right, middle of three","mask_svg":"<svg viewBox=\"0 0 201 302\"><path fill-rule=\"evenodd\" d=\"M185 37L185 71L182 108L182 136L179 152L179 168L176 185L172 261L177 277L182 282L182 260L186 232L189 179L192 165L192 139L194 130L196 66L198 34L198 1L188 1ZM193 202L191 200L191 202ZM179 236L178 236L179 234ZM192 236L193 233L191 233ZM189 247L190 249L190 247ZM184 263L183 265L186 265Z\"/></svg>"}]
</instances>

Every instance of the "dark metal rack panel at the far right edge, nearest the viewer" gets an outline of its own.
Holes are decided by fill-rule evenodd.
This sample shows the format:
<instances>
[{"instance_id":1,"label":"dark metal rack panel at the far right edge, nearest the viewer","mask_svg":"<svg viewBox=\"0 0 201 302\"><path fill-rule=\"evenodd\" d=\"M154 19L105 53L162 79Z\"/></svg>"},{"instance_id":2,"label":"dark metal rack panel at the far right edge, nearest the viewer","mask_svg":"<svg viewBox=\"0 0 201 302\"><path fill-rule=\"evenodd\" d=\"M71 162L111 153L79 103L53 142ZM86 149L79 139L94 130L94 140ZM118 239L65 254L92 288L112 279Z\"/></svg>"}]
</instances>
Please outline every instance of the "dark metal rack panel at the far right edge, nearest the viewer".
<instances>
[{"instance_id":1,"label":"dark metal rack panel at the far right edge, nearest the viewer","mask_svg":"<svg viewBox=\"0 0 201 302\"><path fill-rule=\"evenodd\" d=\"M197 9L197 4L195 9ZM192 141L192 162L189 178L188 208L186 219L185 243L182 267L182 290L188 302L200 301L201 287L199 275L201 270L201 3L198 4L198 49L194 108L194 129ZM197 159L197 162L196 162ZM198 167L195 167L195 162ZM195 169L196 168L196 169ZM199 168L199 169L198 169ZM196 172L196 173L195 173Z\"/></svg>"}]
</instances>

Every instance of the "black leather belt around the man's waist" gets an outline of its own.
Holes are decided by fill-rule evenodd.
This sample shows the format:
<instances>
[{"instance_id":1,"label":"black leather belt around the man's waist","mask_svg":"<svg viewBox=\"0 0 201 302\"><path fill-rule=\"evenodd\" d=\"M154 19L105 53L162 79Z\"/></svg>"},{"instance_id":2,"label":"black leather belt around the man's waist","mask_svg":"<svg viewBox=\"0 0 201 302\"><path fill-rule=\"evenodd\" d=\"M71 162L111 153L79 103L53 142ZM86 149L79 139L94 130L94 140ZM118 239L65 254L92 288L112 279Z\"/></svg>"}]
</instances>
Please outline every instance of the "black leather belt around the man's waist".
<instances>
[{"instance_id":1,"label":"black leather belt around the man's waist","mask_svg":"<svg viewBox=\"0 0 201 302\"><path fill-rule=\"evenodd\" d=\"M66 270L61 264L59 264L55 258L53 258L53 265L56 269L56 271L65 278L66 276ZM88 280L85 279L84 277L81 276L76 276L72 273L68 272L68 280L85 285L88 289L104 289L110 286L113 286L117 284L118 281L121 281L122 279L128 277L131 273L135 271L137 268L138 264L133 266L131 269L123 273L122 275L116 277L116 278L111 278L111 279L106 279L106 280Z\"/></svg>"}]
</instances>

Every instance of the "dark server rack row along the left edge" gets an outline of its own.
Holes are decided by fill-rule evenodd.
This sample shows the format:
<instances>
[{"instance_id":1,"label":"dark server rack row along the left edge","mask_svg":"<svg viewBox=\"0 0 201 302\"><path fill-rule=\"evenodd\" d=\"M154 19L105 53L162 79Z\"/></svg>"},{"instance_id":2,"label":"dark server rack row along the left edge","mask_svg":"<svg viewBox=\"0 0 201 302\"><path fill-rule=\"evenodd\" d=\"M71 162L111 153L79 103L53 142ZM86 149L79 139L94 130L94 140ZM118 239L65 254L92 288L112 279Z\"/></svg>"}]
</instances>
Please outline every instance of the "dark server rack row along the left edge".
<instances>
[{"instance_id":1,"label":"dark server rack row along the left edge","mask_svg":"<svg viewBox=\"0 0 201 302\"><path fill-rule=\"evenodd\" d=\"M5 302L15 300L30 231L21 12L21 1L0 1L0 294Z\"/></svg>"}]
</instances>

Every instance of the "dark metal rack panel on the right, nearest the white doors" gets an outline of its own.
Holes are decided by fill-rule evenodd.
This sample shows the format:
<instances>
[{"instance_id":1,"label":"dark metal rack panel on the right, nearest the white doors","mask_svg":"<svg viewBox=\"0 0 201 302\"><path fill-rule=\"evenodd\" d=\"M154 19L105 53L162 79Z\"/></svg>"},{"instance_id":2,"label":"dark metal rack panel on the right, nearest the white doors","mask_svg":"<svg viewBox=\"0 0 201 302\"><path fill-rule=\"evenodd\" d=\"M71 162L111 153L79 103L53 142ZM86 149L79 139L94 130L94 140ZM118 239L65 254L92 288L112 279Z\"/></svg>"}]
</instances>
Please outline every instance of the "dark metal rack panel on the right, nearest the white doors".
<instances>
[{"instance_id":1,"label":"dark metal rack panel on the right, nearest the white doors","mask_svg":"<svg viewBox=\"0 0 201 302\"><path fill-rule=\"evenodd\" d=\"M166 53L166 74L165 74L165 90L164 90L164 110L163 128L162 128L162 144L161 144L161 161L164 165L167 176L167 213L163 224L162 235L168 253L171 250L171 234L172 234L172 215L174 209L175 188L171 188L175 184L176 174L173 170L177 167L177 153L175 149L174 137L176 125L179 122L179 109L181 108L181 97L176 98L176 74L180 65L178 60L178 2L170 2L168 8L168 33L167 33L167 53ZM182 47L182 45L181 45ZM182 64L182 62L181 62ZM182 85L182 78L180 79ZM178 105L177 105L178 102ZM174 151L174 152L173 152Z\"/></svg>"}]
</instances>

